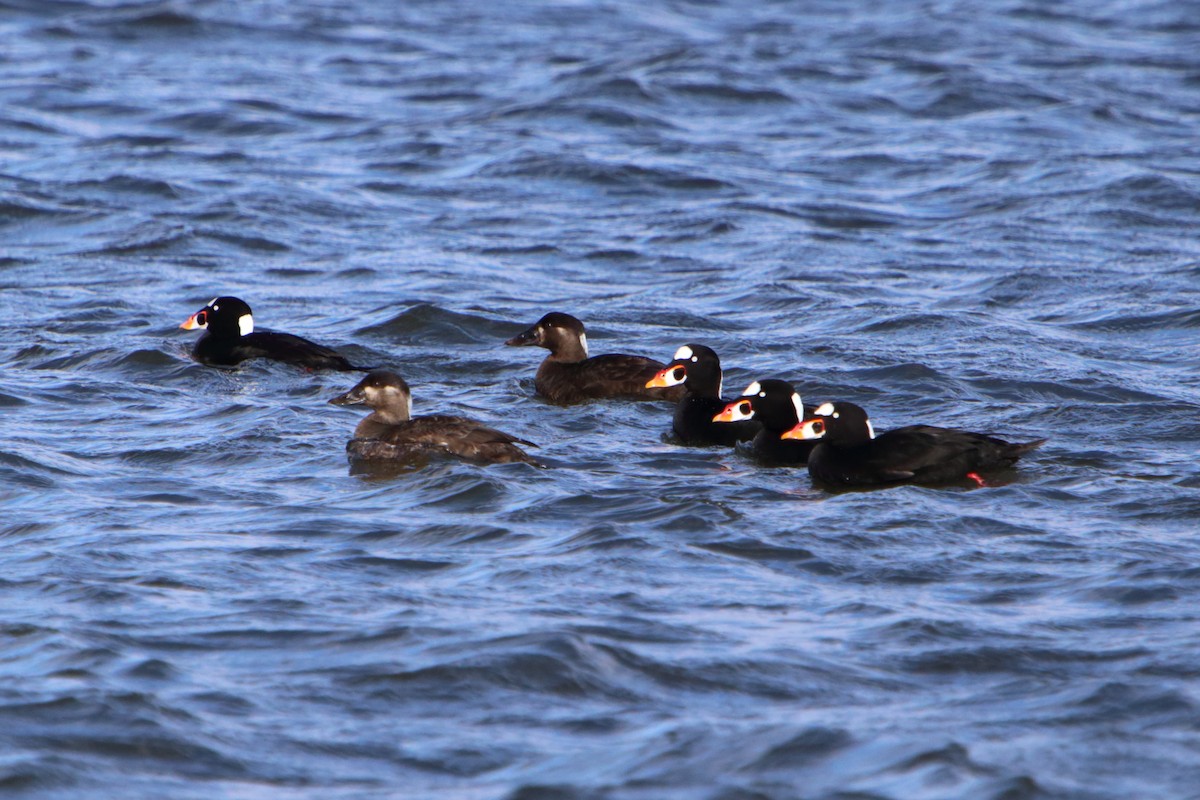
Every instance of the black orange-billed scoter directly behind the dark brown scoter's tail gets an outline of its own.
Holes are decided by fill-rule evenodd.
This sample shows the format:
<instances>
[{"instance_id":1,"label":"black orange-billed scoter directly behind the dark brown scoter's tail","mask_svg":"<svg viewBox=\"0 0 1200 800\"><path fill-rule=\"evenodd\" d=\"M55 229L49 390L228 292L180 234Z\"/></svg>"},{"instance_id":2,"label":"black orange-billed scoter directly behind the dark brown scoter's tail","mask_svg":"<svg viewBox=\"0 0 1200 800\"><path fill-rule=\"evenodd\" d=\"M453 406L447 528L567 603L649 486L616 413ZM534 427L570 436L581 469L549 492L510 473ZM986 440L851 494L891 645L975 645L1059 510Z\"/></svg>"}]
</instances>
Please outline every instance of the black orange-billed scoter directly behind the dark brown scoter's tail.
<instances>
[{"instance_id":1,"label":"black orange-billed scoter directly behind the dark brown scoter's tail","mask_svg":"<svg viewBox=\"0 0 1200 800\"><path fill-rule=\"evenodd\" d=\"M646 385L684 387L671 427L685 445L736 445L754 439L762 431L762 422L757 420L713 420L730 401L721 399L721 360L703 344L684 344L676 350L674 361Z\"/></svg>"}]
</instances>

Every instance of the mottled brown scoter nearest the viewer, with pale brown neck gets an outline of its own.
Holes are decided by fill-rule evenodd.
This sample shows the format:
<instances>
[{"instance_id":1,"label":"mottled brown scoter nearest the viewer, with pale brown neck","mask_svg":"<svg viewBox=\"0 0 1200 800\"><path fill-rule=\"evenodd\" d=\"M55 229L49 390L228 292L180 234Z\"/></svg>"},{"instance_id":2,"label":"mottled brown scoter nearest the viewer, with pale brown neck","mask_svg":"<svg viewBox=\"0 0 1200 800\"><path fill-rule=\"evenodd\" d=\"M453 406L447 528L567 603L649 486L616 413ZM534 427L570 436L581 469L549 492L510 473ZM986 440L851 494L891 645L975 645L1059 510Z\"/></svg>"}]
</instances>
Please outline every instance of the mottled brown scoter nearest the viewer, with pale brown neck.
<instances>
[{"instance_id":1,"label":"mottled brown scoter nearest the viewer, with pale brown neck","mask_svg":"<svg viewBox=\"0 0 1200 800\"><path fill-rule=\"evenodd\" d=\"M413 416L413 396L404 379L386 369L376 369L343 395L334 405L366 405L371 409L346 443L352 459L409 461L434 452L449 452L476 462L524 462L540 465L517 445L538 445L517 439L464 416L431 414Z\"/></svg>"}]
</instances>

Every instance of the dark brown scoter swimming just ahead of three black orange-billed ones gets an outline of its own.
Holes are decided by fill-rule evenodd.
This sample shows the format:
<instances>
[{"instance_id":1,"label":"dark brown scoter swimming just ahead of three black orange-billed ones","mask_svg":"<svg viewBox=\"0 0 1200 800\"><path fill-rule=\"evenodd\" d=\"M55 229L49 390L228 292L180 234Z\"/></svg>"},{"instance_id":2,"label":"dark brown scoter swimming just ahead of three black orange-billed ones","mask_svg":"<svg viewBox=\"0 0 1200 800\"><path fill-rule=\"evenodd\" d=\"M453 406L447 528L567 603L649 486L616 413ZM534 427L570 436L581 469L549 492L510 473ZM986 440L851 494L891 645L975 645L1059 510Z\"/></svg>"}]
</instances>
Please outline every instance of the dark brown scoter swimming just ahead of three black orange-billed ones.
<instances>
[{"instance_id":1,"label":"dark brown scoter swimming just ahead of three black orange-billed ones","mask_svg":"<svg viewBox=\"0 0 1200 800\"><path fill-rule=\"evenodd\" d=\"M616 353L589 359L583 323L570 314L551 312L505 344L536 344L550 350L550 355L538 367L534 386L551 403L570 405L613 397L676 402L684 395L683 386L647 387L647 381L664 367L653 359Z\"/></svg>"}]
</instances>

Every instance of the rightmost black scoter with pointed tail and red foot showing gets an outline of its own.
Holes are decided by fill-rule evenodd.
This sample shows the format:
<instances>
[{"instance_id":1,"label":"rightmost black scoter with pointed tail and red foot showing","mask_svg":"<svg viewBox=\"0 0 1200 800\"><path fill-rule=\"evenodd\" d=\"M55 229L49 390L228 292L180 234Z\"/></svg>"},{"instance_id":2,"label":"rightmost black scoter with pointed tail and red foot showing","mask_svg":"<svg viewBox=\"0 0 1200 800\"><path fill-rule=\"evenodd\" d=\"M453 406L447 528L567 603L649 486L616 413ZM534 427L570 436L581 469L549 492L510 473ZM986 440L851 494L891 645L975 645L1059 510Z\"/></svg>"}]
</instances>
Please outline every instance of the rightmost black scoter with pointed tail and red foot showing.
<instances>
[{"instance_id":1,"label":"rightmost black scoter with pointed tail and red foot showing","mask_svg":"<svg viewBox=\"0 0 1200 800\"><path fill-rule=\"evenodd\" d=\"M824 403L784 438L814 441L809 474L830 487L964 480L984 486L980 471L1009 467L1045 443L1012 444L929 425L910 425L876 437L866 411L853 403Z\"/></svg>"}]
</instances>

